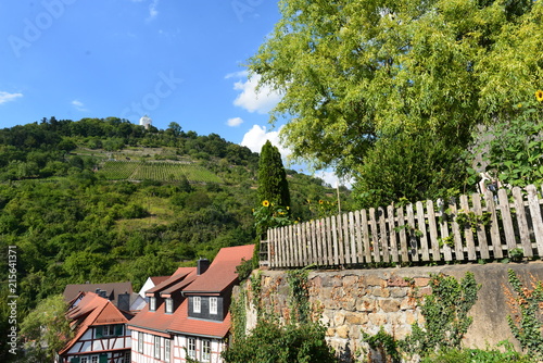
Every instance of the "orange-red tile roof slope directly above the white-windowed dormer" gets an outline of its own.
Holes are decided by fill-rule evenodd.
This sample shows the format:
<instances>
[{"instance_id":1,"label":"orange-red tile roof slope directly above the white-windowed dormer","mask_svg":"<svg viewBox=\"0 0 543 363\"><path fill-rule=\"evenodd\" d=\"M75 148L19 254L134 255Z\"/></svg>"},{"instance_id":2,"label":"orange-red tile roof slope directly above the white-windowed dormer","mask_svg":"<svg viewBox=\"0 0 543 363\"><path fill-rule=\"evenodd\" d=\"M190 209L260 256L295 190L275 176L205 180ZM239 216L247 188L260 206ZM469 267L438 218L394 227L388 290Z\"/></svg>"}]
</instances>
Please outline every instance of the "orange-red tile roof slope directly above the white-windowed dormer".
<instances>
[{"instance_id":1,"label":"orange-red tile roof slope directly above the white-windowed dormer","mask_svg":"<svg viewBox=\"0 0 543 363\"><path fill-rule=\"evenodd\" d=\"M254 245L222 248L212 264L184 292L220 292L238 279L236 267L241 260L251 260Z\"/></svg>"}]
</instances>

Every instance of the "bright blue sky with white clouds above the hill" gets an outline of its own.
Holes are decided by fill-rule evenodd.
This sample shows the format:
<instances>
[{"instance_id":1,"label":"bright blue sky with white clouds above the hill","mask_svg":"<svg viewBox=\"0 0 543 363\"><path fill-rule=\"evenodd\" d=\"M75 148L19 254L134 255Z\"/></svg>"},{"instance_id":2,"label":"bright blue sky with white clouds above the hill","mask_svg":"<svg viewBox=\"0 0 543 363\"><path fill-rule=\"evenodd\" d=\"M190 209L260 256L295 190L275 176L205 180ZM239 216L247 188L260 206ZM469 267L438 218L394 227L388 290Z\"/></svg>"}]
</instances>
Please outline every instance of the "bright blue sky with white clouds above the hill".
<instances>
[{"instance_id":1,"label":"bright blue sky with white clouds above the hill","mask_svg":"<svg viewBox=\"0 0 543 363\"><path fill-rule=\"evenodd\" d=\"M278 20L278 0L2 1L0 128L147 114L253 151L278 145L279 96L256 95L243 67Z\"/></svg>"}]
</instances>

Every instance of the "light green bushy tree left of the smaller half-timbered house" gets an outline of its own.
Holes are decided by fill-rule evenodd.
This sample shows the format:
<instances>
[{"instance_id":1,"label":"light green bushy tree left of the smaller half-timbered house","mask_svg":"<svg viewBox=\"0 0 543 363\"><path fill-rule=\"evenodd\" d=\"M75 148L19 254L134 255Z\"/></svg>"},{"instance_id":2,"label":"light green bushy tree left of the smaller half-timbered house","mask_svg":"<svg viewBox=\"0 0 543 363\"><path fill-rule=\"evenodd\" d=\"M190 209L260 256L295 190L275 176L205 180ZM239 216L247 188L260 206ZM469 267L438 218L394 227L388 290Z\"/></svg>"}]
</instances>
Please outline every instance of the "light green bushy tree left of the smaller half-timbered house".
<instances>
[{"instance_id":1,"label":"light green bushy tree left of the smaller half-timbered house","mask_svg":"<svg viewBox=\"0 0 543 363\"><path fill-rule=\"evenodd\" d=\"M26 340L25 350L34 362L52 361L55 352L73 337L66 311L62 295L54 295L40 301L22 322L21 335Z\"/></svg>"}]
</instances>

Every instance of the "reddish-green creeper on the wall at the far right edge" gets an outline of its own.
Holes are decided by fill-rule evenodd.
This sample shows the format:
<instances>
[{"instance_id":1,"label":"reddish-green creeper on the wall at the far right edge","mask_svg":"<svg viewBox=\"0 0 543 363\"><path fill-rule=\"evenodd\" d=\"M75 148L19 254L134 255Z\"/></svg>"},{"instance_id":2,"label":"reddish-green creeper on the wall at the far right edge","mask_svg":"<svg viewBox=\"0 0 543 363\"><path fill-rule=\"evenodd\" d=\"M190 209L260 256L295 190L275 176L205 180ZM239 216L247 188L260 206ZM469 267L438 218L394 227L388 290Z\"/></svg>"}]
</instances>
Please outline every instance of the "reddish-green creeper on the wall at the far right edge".
<instances>
[{"instance_id":1,"label":"reddish-green creeper on the wall at the far right edge","mask_svg":"<svg viewBox=\"0 0 543 363\"><path fill-rule=\"evenodd\" d=\"M543 360L543 281L532 276L531 287L528 287L513 270L507 275L513 288L513 291L504 289L512 311L507 323L522 349L530 356Z\"/></svg>"}]
</instances>

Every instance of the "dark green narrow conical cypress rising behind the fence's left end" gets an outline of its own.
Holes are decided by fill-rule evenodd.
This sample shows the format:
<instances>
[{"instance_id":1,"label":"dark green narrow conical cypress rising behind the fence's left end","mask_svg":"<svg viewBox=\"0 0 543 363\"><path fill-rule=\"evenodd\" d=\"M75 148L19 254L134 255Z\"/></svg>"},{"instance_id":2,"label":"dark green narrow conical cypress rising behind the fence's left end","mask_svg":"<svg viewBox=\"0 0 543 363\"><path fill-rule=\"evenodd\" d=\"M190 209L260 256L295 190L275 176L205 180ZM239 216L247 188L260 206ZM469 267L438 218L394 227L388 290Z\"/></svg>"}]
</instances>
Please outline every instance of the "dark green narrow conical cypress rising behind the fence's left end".
<instances>
[{"instance_id":1,"label":"dark green narrow conical cypress rising behind the fence's left end","mask_svg":"<svg viewBox=\"0 0 543 363\"><path fill-rule=\"evenodd\" d=\"M290 191L287 173L282 166L281 153L269 140L262 147L258 161L260 203L269 203L290 208Z\"/></svg>"}]
</instances>

